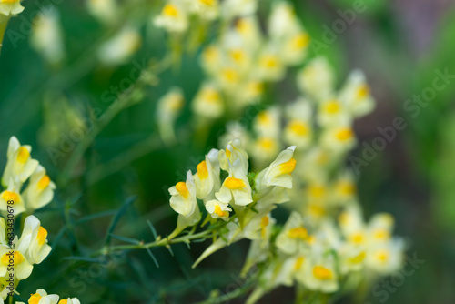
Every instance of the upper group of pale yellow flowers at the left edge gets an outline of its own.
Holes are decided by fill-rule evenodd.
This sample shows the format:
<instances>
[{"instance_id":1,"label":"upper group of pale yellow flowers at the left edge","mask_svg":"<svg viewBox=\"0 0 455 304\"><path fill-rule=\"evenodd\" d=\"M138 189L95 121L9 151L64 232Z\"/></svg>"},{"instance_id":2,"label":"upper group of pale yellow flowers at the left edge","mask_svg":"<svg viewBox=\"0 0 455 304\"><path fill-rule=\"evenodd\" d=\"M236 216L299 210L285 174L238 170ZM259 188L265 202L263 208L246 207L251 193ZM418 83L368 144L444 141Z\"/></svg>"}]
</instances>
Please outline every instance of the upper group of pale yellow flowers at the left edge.
<instances>
[{"instance_id":1,"label":"upper group of pale yellow flowers at the left edge","mask_svg":"<svg viewBox=\"0 0 455 304\"><path fill-rule=\"evenodd\" d=\"M3 212L7 211L7 201L10 200L14 201L17 216L25 211L33 213L54 198L56 184L46 174L45 168L30 156L31 152L32 147L21 146L16 137L9 140L7 162L2 176L5 190L0 193L0 210Z\"/></svg>"}]
</instances>

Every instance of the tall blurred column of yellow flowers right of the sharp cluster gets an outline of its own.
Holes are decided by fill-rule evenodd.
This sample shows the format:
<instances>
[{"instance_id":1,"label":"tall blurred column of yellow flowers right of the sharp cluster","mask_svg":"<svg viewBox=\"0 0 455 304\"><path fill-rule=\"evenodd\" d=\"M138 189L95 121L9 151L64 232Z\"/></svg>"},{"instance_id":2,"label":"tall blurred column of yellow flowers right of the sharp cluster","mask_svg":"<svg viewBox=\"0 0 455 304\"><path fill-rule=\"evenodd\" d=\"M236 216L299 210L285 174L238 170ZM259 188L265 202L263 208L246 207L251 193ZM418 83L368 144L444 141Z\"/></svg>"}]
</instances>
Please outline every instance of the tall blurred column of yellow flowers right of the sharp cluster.
<instances>
[{"instance_id":1,"label":"tall blurred column of yellow flowers right of the sharp cluster","mask_svg":"<svg viewBox=\"0 0 455 304\"><path fill-rule=\"evenodd\" d=\"M231 123L220 138L220 145L242 138L255 167L268 163L282 147L298 147L294 183L285 204L293 211L277 235L253 241L248 254L244 272L268 257L248 303L278 285L346 292L341 282L353 280L355 286L402 265L404 243L391 237L393 218L378 214L364 223L354 175L344 168L357 142L353 120L374 107L365 77L354 71L336 91L329 63L317 57L297 80L301 96L295 102L258 113L252 132ZM264 258L256 259L258 252Z\"/></svg>"}]
</instances>

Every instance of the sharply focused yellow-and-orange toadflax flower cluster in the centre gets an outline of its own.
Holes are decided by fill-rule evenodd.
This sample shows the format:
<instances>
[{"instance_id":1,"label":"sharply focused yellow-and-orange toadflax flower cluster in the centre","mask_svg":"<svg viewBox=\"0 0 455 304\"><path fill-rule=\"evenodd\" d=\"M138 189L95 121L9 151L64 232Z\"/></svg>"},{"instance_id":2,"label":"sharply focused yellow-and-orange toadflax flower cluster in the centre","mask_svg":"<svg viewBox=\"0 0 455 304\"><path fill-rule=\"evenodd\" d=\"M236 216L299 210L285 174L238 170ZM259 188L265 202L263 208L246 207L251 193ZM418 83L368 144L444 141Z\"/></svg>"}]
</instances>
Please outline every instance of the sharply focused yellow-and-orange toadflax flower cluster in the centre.
<instances>
[{"instance_id":1,"label":"sharply focused yellow-and-orange toadflax flower cluster in the centre","mask_svg":"<svg viewBox=\"0 0 455 304\"><path fill-rule=\"evenodd\" d=\"M288 200L284 190L292 187L296 167L295 147L288 147L258 173L248 173L248 154L239 140L226 149L212 149L197 165L197 173L187 172L187 180L169 188L170 206L178 213L176 231L195 226L201 219L197 200L207 210L207 219L223 227L217 240L197 260L242 238L262 239L275 222L270 212ZM226 177L223 179L221 175ZM221 230L220 230L221 231Z\"/></svg>"}]
</instances>

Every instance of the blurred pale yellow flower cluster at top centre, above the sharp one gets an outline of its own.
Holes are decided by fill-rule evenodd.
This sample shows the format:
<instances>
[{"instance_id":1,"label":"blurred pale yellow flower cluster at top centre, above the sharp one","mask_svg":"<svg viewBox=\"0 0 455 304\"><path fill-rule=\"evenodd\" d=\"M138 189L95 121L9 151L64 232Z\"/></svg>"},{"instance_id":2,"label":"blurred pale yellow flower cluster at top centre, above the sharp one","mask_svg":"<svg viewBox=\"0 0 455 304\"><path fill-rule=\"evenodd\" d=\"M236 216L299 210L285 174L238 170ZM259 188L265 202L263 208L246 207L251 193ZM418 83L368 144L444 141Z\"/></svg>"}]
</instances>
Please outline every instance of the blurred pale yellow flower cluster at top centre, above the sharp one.
<instances>
[{"instance_id":1,"label":"blurred pale yellow flower cluster at top centre, above the sharp one","mask_svg":"<svg viewBox=\"0 0 455 304\"><path fill-rule=\"evenodd\" d=\"M309 40L292 7L284 2L268 16L267 35L256 16L238 18L203 50L201 66L207 79L193 100L193 111L214 119L258 102L267 83L281 80L288 66L307 56Z\"/></svg>"}]
</instances>

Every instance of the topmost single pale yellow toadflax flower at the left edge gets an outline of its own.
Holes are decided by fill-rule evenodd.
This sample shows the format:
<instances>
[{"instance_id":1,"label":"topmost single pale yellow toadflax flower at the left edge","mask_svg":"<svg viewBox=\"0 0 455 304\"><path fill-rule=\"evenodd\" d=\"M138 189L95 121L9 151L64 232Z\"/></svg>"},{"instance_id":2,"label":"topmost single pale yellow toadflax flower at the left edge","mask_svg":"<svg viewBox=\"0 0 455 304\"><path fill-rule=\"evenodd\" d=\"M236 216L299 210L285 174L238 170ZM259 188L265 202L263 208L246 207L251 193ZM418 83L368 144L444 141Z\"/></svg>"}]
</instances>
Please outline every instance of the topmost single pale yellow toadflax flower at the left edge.
<instances>
[{"instance_id":1,"label":"topmost single pale yellow toadflax flower at the left edge","mask_svg":"<svg viewBox=\"0 0 455 304\"><path fill-rule=\"evenodd\" d=\"M38 166L38 161L30 157L31 151L32 147L21 146L16 137L9 139L8 160L2 177L2 185L4 187L10 184L10 179L18 177L19 182L24 183L32 175Z\"/></svg>"}]
</instances>

